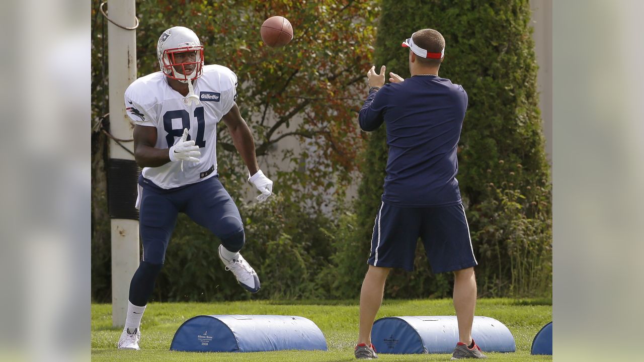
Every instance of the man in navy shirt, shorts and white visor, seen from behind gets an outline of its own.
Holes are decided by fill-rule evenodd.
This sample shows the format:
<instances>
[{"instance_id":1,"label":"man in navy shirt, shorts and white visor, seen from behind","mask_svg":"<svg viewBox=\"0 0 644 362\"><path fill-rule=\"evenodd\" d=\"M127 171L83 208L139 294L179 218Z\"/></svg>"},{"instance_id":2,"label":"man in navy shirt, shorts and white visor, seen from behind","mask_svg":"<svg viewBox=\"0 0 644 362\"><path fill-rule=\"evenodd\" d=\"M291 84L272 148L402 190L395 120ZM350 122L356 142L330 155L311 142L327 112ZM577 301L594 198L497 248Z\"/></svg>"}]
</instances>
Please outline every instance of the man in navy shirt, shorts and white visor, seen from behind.
<instances>
[{"instance_id":1,"label":"man in navy shirt, shorts and white visor, seen from behind","mask_svg":"<svg viewBox=\"0 0 644 362\"><path fill-rule=\"evenodd\" d=\"M452 359L486 358L471 338L477 299L474 257L468 221L456 174L457 144L468 107L462 86L440 78L445 39L423 29L403 42L410 48L412 77L390 73L384 84L372 67L369 95L360 111L360 127L374 131L386 124L389 157L382 204L375 216L369 269L360 295L360 330L355 357L377 358L371 329L392 268L413 270L418 238L433 272L454 272L454 307L459 343Z\"/></svg>"}]
</instances>

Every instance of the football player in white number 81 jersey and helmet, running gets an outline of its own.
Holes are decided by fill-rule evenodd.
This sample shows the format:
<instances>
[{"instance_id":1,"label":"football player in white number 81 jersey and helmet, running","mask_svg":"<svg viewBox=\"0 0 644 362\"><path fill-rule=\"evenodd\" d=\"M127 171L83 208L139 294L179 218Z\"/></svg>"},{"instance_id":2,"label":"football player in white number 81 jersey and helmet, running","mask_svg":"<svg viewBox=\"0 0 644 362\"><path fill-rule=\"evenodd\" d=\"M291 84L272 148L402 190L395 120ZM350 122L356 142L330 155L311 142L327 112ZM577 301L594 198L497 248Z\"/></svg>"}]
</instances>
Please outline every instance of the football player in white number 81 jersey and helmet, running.
<instances>
[{"instance_id":1,"label":"football player in white number 81 jersey and helmet, running","mask_svg":"<svg viewBox=\"0 0 644 362\"><path fill-rule=\"evenodd\" d=\"M258 166L251 130L235 103L237 77L225 66L204 65L204 47L183 26L162 33L156 55L161 70L137 79L125 92L126 111L135 122L135 159L144 167L137 198L143 257L130 283L119 349L139 349L141 317L178 213L218 236L225 269L247 291L260 290L256 272L239 253L245 240L242 218L217 173L216 128L223 120L249 181L261 191L258 200L272 193L273 182Z\"/></svg>"}]
</instances>

